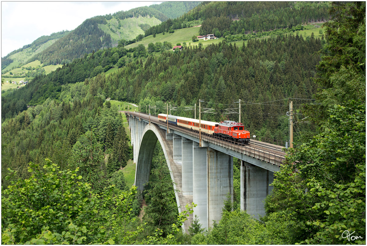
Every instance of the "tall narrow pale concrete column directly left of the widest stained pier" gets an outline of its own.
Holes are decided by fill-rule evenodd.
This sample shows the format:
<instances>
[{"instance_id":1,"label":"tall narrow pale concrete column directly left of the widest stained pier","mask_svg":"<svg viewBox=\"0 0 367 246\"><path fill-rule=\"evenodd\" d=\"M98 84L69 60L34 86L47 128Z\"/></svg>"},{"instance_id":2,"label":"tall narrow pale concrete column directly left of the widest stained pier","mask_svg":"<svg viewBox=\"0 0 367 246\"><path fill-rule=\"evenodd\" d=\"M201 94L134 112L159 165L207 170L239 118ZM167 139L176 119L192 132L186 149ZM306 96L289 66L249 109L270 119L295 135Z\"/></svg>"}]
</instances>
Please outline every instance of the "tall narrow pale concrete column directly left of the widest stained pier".
<instances>
[{"instance_id":1,"label":"tall narrow pale concrete column directly left of the widest stained pier","mask_svg":"<svg viewBox=\"0 0 367 246\"><path fill-rule=\"evenodd\" d=\"M208 228L208 170L207 147L199 147L199 143L193 142L192 169L193 169L193 202L195 215L199 217L202 228Z\"/></svg>"}]
</instances>

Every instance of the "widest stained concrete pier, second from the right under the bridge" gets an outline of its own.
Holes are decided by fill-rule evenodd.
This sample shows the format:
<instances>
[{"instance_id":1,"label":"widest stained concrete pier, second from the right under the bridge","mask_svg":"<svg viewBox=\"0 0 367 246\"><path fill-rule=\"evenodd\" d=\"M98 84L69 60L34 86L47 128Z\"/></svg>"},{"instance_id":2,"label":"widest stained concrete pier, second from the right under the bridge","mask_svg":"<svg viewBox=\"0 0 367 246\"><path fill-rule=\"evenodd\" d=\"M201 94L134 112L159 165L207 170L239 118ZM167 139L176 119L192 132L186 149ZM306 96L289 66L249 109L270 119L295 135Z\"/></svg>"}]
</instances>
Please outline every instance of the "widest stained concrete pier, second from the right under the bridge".
<instances>
[{"instance_id":1,"label":"widest stained concrete pier, second from the right under the bridge","mask_svg":"<svg viewBox=\"0 0 367 246\"><path fill-rule=\"evenodd\" d=\"M208 212L209 226L222 218L224 201L229 194L233 202L233 157L208 148Z\"/></svg>"}]
</instances>

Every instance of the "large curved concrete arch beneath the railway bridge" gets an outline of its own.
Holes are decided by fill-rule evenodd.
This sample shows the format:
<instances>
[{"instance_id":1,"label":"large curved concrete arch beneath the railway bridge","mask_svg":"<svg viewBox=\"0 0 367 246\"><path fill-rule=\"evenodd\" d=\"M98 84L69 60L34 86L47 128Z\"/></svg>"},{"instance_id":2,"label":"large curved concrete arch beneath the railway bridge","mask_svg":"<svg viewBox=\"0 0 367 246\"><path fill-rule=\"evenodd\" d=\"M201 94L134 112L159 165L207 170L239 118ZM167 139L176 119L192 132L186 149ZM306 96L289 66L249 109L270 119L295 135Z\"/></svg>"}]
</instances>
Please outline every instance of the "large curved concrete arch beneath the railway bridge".
<instances>
[{"instance_id":1,"label":"large curved concrete arch beneath the railway bridge","mask_svg":"<svg viewBox=\"0 0 367 246\"><path fill-rule=\"evenodd\" d=\"M170 134L170 133L168 133ZM171 133L172 135L172 133ZM168 143L166 131L160 129L157 125L151 123L147 124L142 131L141 140L138 145L137 163L135 171L135 186L138 190L144 190L144 184L149 181L150 165L152 164L153 152L156 147L157 141L162 146L164 157L166 158L168 169L170 170L171 179L173 180L173 188L175 190L176 202L178 206L178 212L181 212L181 205L176 189L176 181L172 172L171 164L173 161L172 146ZM172 136L171 136L172 137ZM172 141L171 141L172 142ZM181 182L178 181L177 182ZM183 204L185 206L185 204Z\"/></svg>"}]
</instances>

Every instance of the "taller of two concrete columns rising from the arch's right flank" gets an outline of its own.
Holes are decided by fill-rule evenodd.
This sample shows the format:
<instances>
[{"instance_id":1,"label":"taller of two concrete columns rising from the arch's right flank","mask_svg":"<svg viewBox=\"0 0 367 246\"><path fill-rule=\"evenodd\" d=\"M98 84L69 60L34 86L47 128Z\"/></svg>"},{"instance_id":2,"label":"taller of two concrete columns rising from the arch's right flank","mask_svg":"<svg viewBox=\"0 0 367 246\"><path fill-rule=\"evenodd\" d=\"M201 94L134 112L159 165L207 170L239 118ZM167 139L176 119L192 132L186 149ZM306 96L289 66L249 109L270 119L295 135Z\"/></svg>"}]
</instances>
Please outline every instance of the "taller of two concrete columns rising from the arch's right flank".
<instances>
[{"instance_id":1,"label":"taller of two concrete columns rising from the arch's right flank","mask_svg":"<svg viewBox=\"0 0 367 246\"><path fill-rule=\"evenodd\" d=\"M192 140L182 137L182 195L192 195Z\"/></svg>"}]
</instances>

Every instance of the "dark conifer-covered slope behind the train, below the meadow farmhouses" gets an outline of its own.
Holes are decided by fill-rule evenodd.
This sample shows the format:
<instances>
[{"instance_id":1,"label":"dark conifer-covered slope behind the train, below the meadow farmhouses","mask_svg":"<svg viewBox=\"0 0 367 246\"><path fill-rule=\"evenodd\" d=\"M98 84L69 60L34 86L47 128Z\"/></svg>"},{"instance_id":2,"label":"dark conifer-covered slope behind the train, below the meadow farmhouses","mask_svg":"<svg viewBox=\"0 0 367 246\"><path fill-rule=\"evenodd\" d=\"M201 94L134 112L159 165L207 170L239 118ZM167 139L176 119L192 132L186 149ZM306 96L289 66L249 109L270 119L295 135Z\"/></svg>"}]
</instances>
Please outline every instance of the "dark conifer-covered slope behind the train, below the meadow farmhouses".
<instances>
[{"instance_id":1,"label":"dark conifer-covered slope behind the train, below the meadow farmhouses","mask_svg":"<svg viewBox=\"0 0 367 246\"><path fill-rule=\"evenodd\" d=\"M310 77L319 61L313 54L320 48L319 39L305 41L296 35L251 40L241 49L221 43L204 50L195 47L179 53L167 52L157 58L149 56L144 65L127 64L107 78L110 86L105 89L112 92L113 98L143 105L160 100L175 106L193 106L201 99L212 103L208 106L217 112L203 117L218 121L226 112L224 105L233 104L238 98L251 103L287 97L310 99L316 91ZM305 61L309 65L305 66ZM286 137L286 132L270 129L284 124L281 114L287 106L251 103L242 107L241 122L252 131L264 126L269 129L266 134L273 134L276 139ZM177 113L188 114L183 110ZM185 116L193 117L193 112Z\"/></svg>"}]
</instances>

